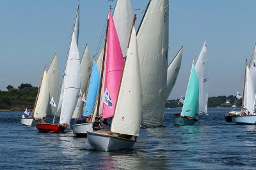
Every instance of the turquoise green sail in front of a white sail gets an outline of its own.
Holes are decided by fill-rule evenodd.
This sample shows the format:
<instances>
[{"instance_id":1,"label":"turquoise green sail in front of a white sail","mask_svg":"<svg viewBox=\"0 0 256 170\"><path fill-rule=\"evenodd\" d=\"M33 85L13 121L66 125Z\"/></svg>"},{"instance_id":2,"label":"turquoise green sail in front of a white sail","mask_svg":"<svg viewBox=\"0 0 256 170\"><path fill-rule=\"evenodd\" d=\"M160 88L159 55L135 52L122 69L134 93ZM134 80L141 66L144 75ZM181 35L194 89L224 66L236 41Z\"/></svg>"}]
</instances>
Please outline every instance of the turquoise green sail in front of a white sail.
<instances>
[{"instance_id":1,"label":"turquoise green sail in front of a white sail","mask_svg":"<svg viewBox=\"0 0 256 170\"><path fill-rule=\"evenodd\" d=\"M198 107L199 83L196 76L194 62L192 64L188 89L186 92L185 102L181 111L182 116L195 117Z\"/></svg>"}]
</instances>

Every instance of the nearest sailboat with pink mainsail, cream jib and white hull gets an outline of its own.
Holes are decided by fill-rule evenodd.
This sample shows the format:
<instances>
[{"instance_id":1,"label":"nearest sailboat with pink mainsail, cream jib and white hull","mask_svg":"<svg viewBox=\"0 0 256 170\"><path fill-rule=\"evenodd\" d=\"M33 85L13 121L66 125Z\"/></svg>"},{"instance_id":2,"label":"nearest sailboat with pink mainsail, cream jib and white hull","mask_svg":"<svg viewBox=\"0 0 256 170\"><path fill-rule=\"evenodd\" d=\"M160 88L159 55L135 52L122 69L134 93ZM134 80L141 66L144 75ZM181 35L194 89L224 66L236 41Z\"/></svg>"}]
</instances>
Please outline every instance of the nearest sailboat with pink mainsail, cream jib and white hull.
<instances>
[{"instance_id":1,"label":"nearest sailboat with pink mainsail, cream jib and white hull","mask_svg":"<svg viewBox=\"0 0 256 170\"><path fill-rule=\"evenodd\" d=\"M134 27L132 27L131 40L125 57L126 62L124 67L122 53L118 43L115 24L109 12L106 80L104 87L100 88L108 89L109 96L111 96L103 97L103 107L105 107L105 109L103 108L102 118L113 117L113 121L110 131L87 132L88 142L97 150L131 149L136 141L135 136L138 136L140 132L142 96L138 64L138 45ZM115 64L113 65L113 63ZM113 76L114 74L116 74L116 76ZM118 82L120 82L120 87ZM113 87L111 88L111 84L113 83L118 85L119 90ZM116 90L116 97L113 90ZM106 107L108 108L106 109ZM99 108L97 108L97 110L99 110ZM134 138L132 138L133 136Z\"/></svg>"}]
</instances>

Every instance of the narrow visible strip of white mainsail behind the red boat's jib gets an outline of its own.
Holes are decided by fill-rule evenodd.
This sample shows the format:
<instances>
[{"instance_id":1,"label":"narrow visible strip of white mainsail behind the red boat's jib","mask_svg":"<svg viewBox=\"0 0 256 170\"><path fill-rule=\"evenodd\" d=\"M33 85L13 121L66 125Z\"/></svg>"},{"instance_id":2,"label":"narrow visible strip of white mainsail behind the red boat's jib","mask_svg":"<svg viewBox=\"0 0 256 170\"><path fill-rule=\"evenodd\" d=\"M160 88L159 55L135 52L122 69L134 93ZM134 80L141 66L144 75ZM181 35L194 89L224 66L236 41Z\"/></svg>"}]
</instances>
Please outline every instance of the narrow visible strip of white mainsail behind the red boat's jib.
<instances>
[{"instance_id":1,"label":"narrow visible strip of white mainsail behind the red boat's jib","mask_svg":"<svg viewBox=\"0 0 256 170\"><path fill-rule=\"evenodd\" d=\"M73 30L72 30L72 34L74 33L74 36L75 36L75 39L76 39L76 44L78 42L78 36L79 36L79 3L78 3L78 6L77 6L77 11L76 11L76 18L75 18L75 22L74 22L74 25L73 25ZM70 45L71 45L71 41L70 40ZM70 45L69 45L69 48L68 48L68 55L70 55ZM61 113L61 106L62 106L62 101L63 101L63 94L64 94L64 85L65 85L65 82L66 82L66 79L67 79L67 67L68 67L68 60L66 60L66 66L65 66L65 71L64 71L64 74L63 74L63 78L62 78L62 82L61 82L61 85L60 85L60 96L59 96L59 99L58 99L58 109L57 109L57 113L56 115L60 116L60 113Z\"/></svg>"}]
</instances>

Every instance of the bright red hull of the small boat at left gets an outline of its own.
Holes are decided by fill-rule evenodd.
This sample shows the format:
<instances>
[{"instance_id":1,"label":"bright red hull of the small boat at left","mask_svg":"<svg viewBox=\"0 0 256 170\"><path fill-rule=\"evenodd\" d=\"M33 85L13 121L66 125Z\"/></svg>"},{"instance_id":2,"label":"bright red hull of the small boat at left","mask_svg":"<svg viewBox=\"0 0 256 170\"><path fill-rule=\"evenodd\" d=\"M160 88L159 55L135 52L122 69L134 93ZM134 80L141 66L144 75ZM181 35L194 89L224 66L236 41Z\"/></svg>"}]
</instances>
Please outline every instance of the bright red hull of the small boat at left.
<instances>
[{"instance_id":1,"label":"bright red hull of the small boat at left","mask_svg":"<svg viewBox=\"0 0 256 170\"><path fill-rule=\"evenodd\" d=\"M67 125L56 125L56 124L36 124L36 129L40 132L64 132Z\"/></svg>"}]
</instances>

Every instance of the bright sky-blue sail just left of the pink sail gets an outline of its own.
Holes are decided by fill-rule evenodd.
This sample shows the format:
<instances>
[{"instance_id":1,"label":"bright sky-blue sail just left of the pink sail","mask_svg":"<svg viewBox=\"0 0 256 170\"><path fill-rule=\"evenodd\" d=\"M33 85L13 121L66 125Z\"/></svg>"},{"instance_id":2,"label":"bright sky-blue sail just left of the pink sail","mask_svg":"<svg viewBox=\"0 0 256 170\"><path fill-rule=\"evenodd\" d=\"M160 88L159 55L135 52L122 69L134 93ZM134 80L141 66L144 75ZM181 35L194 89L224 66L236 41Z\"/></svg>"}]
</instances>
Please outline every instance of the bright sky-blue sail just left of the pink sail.
<instances>
[{"instance_id":1,"label":"bright sky-blue sail just left of the pink sail","mask_svg":"<svg viewBox=\"0 0 256 170\"><path fill-rule=\"evenodd\" d=\"M83 113L84 116L88 117L89 115L92 114L95 101L99 93L99 89L100 89L100 72L95 63L95 60L93 60L92 73L90 76L90 83L89 83L88 92L86 96L86 105L84 107L84 113Z\"/></svg>"}]
</instances>

